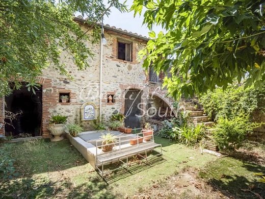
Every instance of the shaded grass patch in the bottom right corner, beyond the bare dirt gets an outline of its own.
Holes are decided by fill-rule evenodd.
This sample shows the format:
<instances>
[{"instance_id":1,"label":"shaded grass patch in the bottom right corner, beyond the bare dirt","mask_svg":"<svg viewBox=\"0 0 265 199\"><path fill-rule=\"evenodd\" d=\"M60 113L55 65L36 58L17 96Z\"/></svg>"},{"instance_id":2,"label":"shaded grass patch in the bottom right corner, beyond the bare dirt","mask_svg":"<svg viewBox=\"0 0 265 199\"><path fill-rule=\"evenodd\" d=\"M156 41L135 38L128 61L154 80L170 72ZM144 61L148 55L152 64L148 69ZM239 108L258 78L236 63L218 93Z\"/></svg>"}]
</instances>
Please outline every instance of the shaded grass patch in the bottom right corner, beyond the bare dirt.
<instances>
[{"instance_id":1,"label":"shaded grass patch in the bottom right corner, beyond the bare dirt","mask_svg":"<svg viewBox=\"0 0 265 199\"><path fill-rule=\"evenodd\" d=\"M265 173L265 166L232 157L222 157L201 169L199 176L224 194L235 198L256 198L254 192L264 198L265 184L257 182L259 177L255 177L254 172Z\"/></svg>"}]
</instances>

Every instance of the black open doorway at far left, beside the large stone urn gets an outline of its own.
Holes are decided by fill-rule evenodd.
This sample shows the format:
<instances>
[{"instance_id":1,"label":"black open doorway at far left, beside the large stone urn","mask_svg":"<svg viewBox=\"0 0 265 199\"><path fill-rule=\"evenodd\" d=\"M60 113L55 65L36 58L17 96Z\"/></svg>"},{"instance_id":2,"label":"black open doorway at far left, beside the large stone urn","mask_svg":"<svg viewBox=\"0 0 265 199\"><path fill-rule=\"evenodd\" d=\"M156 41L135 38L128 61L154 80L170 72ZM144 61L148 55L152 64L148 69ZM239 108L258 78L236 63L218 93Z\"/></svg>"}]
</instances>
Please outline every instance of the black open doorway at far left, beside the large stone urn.
<instances>
[{"instance_id":1,"label":"black open doorway at far left, beside the large stone urn","mask_svg":"<svg viewBox=\"0 0 265 199\"><path fill-rule=\"evenodd\" d=\"M13 88L14 84L10 83ZM5 97L6 117L12 112L17 114L16 118L10 121L5 119L5 135L13 136L14 138L39 136L41 134L41 119L42 119L42 86L39 90L32 89L29 91L26 83L22 83L22 87L17 90L14 89L13 93Z\"/></svg>"}]
</instances>

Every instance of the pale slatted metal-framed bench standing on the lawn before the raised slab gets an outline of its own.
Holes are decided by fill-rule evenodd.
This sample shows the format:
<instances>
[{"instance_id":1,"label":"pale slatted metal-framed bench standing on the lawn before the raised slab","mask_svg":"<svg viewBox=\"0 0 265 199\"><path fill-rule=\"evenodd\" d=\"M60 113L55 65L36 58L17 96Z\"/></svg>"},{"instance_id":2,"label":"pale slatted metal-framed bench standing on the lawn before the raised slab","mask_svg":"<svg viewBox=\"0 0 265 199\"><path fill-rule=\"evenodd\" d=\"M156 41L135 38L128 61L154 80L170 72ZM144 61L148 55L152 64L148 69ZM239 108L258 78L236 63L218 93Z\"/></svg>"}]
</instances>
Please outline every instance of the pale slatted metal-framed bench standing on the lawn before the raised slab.
<instances>
[{"instance_id":1,"label":"pale slatted metal-framed bench standing on the lawn before the raised slab","mask_svg":"<svg viewBox=\"0 0 265 199\"><path fill-rule=\"evenodd\" d=\"M147 151L154 150L155 147L160 147L161 152L157 152L157 154L153 155L152 157L161 156L161 158L163 158L162 157L162 155L163 155L162 154L162 145L161 144L156 144L154 142L153 134L152 135L148 135L148 136L143 136L143 137L139 136L141 134L143 134L143 133L128 134L128 135L125 135L125 136L120 136L119 137L119 141L117 141L115 143L111 143L111 144L115 144L116 147L118 147L118 150L113 151L111 153L101 153L101 154L99 154L98 150L97 150L98 147L107 146L107 145L111 145L111 144L98 145L98 142L102 142L104 140L101 139L101 140L97 140L96 141L96 165L95 165L95 167L99 171L99 175L102 178L104 178L104 174L106 174L108 172L112 172L112 171L117 170L117 169L120 169L121 167L125 168L128 171L128 158L131 157L131 156L139 155L142 158L144 158L146 160L145 163L148 164ZM139 143L139 139L142 139L144 137L150 137L150 136L152 137L152 139L150 141L143 142L141 144ZM124 149L121 148L121 143L128 142L128 140L121 140L121 138L124 138L124 137L132 137L131 139L137 139L137 145L136 146L127 147L127 148L124 148ZM142 153L145 153L145 157L141 155ZM115 161L121 162L122 163L121 167L112 169L112 170L110 170L108 172L104 172L104 165L112 163L112 162L115 162ZM100 169L100 167L101 167L101 169Z\"/></svg>"}]
</instances>

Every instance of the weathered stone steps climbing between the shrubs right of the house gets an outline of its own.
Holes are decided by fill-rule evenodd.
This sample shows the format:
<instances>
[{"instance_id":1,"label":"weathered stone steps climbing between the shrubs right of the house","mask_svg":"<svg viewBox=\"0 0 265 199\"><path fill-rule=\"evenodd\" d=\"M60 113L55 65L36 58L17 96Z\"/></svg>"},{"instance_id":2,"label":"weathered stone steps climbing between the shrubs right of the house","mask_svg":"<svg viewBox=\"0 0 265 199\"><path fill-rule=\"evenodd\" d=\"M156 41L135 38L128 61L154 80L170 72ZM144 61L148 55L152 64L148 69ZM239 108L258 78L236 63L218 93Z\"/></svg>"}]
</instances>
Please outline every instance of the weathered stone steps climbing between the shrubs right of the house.
<instances>
[{"instance_id":1,"label":"weathered stone steps climbing between the shrubs right of the house","mask_svg":"<svg viewBox=\"0 0 265 199\"><path fill-rule=\"evenodd\" d=\"M194 125L203 125L206 127L206 137L202 140L202 144L205 148L208 148L212 151L218 151L218 147L214 142L211 132L213 129L211 127L214 125L213 121L210 121L210 118L202 110L198 110L194 102L180 102L180 110L190 111L190 117Z\"/></svg>"}]
</instances>

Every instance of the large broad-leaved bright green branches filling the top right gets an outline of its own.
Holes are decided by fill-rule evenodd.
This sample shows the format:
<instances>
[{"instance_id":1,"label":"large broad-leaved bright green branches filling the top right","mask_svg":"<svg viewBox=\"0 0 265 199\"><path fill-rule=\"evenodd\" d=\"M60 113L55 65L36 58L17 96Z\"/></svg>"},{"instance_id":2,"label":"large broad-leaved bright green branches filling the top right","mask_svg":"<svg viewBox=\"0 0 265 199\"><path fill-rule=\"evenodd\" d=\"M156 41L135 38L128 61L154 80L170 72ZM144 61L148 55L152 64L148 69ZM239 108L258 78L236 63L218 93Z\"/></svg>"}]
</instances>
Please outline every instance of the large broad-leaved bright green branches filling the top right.
<instances>
[{"instance_id":1,"label":"large broad-leaved bright green branches filling the top right","mask_svg":"<svg viewBox=\"0 0 265 199\"><path fill-rule=\"evenodd\" d=\"M174 97L225 89L236 79L260 88L265 82L264 4L257 1L142 1L134 0L136 14L143 8L144 23L165 30L139 52L146 70L172 73L165 86Z\"/></svg>"}]
</instances>

